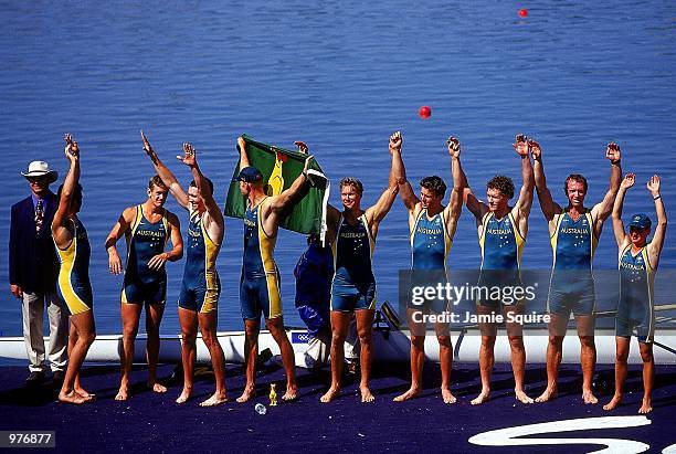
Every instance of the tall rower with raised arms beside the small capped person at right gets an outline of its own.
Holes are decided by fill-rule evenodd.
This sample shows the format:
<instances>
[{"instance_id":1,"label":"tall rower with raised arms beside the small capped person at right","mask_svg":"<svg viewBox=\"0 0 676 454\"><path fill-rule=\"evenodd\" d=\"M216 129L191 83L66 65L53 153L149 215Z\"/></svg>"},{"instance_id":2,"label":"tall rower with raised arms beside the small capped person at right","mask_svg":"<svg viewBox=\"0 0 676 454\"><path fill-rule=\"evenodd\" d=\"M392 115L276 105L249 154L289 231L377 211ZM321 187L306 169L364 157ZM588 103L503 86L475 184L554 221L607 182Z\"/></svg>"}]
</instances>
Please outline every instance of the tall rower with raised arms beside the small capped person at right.
<instances>
[{"instance_id":1,"label":"tall rower with raised arms beside the small capped person at right","mask_svg":"<svg viewBox=\"0 0 676 454\"><path fill-rule=\"evenodd\" d=\"M592 262L596 244L603 230L603 222L611 215L613 202L622 169L621 151L616 144L609 144L605 158L611 162L610 187L603 200L587 208L587 179L579 173L571 173L563 183L568 205L561 208L552 200L547 188L542 150L531 149L535 168L536 190L542 214L549 225L553 264L547 312L550 315L549 344L547 345L547 388L536 399L546 402L557 395L559 366L561 365L563 337L566 336L570 314L575 317L578 337L580 338L580 363L582 365L582 400L584 403L596 403L592 392L592 377L596 363L594 345L595 293L592 274Z\"/></svg>"}]
</instances>

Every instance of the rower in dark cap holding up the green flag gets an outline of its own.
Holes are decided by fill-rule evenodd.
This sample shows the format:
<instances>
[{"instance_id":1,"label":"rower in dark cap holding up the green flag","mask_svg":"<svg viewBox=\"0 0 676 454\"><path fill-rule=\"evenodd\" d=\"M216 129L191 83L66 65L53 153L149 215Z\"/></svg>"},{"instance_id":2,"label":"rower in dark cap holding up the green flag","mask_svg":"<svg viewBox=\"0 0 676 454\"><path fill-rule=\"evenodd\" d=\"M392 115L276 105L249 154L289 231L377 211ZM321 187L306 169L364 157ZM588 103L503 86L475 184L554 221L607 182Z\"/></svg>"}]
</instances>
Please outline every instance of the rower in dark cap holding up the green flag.
<instances>
[{"instance_id":1,"label":"rower in dark cap holding up the green flag","mask_svg":"<svg viewBox=\"0 0 676 454\"><path fill-rule=\"evenodd\" d=\"M282 297L279 294L279 271L275 264L274 251L277 242L277 230L283 213L299 199L307 186L307 168L313 156L305 160L303 173L293 184L278 196L267 196L263 188L263 173L250 166L246 155L246 142L237 138L240 149L240 191L246 198L244 213L244 255L242 258L242 277L240 282L240 305L244 319L246 356L246 386L237 402L246 402L255 395L256 357L258 355L258 331L261 315L265 325L279 346L282 361L286 372L286 392L282 400L297 398L294 349L284 330Z\"/></svg>"}]
</instances>

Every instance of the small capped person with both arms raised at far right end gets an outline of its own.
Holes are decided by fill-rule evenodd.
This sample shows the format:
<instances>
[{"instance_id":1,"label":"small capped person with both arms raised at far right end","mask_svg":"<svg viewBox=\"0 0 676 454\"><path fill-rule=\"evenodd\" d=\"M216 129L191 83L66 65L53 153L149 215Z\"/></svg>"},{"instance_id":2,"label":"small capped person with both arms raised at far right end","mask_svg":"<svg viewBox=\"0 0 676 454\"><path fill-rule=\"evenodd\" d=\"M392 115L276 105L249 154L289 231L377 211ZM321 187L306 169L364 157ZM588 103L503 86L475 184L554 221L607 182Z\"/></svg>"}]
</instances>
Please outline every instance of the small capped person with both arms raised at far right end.
<instances>
[{"instance_id":1,"label":"small capped person with both arms raised at far right end","mask_svg":"<svg viewBox=\"0 0 676 454\"><path fill-rule=\"evenodd\" d=\"M653 285L655 272L659 264L659 254L664 246L667 226L666 212L659 194L659 177L653 176L647 182L647 190L653 196L657 212L657 226L653 241L647 242L652 222L645 214L634 214L629 224L629 234L622 223L622 205L626 191L634 186L634 173L627 173L620 184L620 192L613 207L613 231L620 250L620 302L615 317L615 393L604 410L613 410L622 402L624 381L626 379L626 360L632 332L636 331L641 358L643 359L643 402L638 413L653 410L651 394L655 380L655 359L653 340L655 335L655 302Z\"/></svg>"}]
</instances>

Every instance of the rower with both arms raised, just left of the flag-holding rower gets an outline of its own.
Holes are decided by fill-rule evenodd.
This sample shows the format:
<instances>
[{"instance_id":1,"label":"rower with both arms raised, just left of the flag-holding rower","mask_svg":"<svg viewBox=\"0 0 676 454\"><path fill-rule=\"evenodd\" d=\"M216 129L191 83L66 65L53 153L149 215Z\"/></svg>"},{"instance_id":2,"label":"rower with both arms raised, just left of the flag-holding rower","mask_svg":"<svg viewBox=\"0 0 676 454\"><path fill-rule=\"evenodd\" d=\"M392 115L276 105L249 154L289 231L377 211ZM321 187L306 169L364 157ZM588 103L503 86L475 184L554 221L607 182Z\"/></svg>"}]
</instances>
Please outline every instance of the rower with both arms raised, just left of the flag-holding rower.
<instances>
[{"instance_id":1,"label":"rower with both arms raised, just left of the flag-holding rower","mask_svg":"<svg viewBox=\"0 0 676 454\"><path fill-rule=\"evenodd\" d=\"M202 340L209 349L215 376L214 393L200 405L218 405L228 401L225 358L216 335L221 281L215 263L225 233L223 214L213 199L213 183L202 175L197 161L197 150L191 144L183 144L183 155L177 156L178 160L190 168L193 178L186 192L173 173L159 159L142 131L141 138L144 150L150 157L155 171L178 203L190 213L188 241L186 242L186 267L178 299L183 390L176 402L183 403L192 394L199 326Z\"/></svg>"}]
</instances>

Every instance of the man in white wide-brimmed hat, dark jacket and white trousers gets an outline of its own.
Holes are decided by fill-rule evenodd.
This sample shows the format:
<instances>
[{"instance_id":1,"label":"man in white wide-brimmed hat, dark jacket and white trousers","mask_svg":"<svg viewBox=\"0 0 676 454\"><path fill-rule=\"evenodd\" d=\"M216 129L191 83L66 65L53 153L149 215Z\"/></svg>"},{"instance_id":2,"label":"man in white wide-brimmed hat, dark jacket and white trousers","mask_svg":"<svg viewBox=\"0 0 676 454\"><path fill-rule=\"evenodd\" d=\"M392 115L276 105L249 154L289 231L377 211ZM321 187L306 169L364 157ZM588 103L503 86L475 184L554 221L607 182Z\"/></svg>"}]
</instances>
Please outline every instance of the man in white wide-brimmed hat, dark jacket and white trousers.
<instances>
[{"instance_id":1,"label":"man in white wide-brimmed hat, dark jacket and white trousers","mask_svg":"<svg viewBox=\"0 0 676 454\"><path fill-rule=\"evenodd\" d=\"M23 337L30 361L27 384L45 379L46 366L42 324L46 303L50 317L47 358L55 382L63 381L67 360L68 318L56 295L59 263L50 225L59 201L50 190L59 173L44 161L33 161L28 172L31 194L12 207L10 229L10 286L23 302Z\"/></svg>"}]
</instances>

